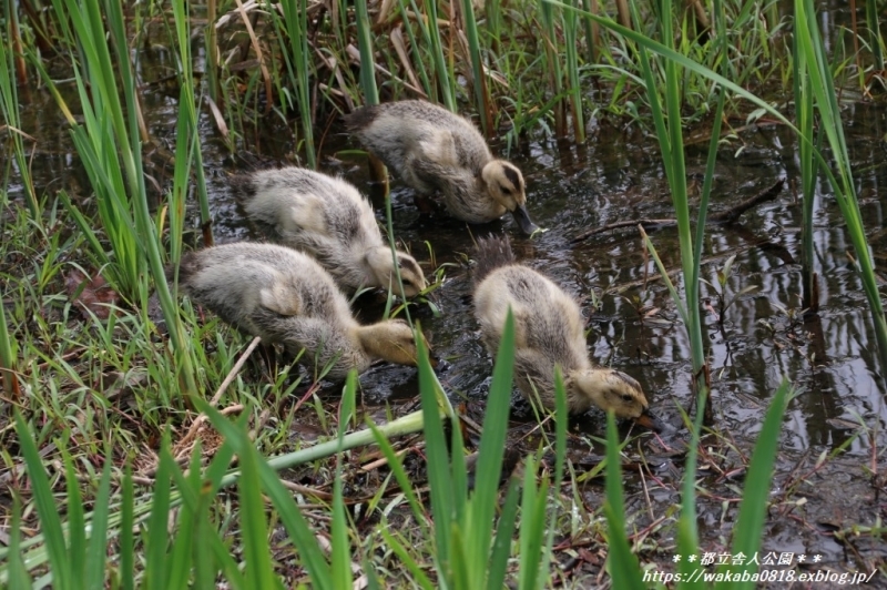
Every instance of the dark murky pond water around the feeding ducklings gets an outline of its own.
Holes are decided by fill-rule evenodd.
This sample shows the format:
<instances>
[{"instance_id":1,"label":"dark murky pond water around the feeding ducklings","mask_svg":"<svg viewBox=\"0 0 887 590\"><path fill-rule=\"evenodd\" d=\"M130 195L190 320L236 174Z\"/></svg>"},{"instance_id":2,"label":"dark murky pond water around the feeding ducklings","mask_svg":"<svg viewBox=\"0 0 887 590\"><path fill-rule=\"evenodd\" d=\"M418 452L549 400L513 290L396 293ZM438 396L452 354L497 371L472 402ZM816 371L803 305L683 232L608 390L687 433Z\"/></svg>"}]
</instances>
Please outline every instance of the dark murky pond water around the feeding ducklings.
<instances>
[{"instance_id":1,"label":"dark murky pond water around the feeding ducklings","mask_svg":"<svg viewBox=\"0 0 887 590\"><path fill-rule=\"evenodd\" d=\"M162 64L163 60L159 61ZM160 65L157 65L160 67ZM67 189L86 193L61 119L49 96L29 99L32 116L27 128L40 138L34 157L39 192ZM174 101L154 96L146 101L152 133L172 144ZM27 115L27 113L26 113ZM50 115L51 118L52 115ZM876 263L885 261L887 245L887 109L848 102L844 104L846 133L854 160L860 207L866 220ZM742 124L741 122L737 124ZM214 230L218 242L244 240L251 233L228 192L226 175L245 167L283 164L281 156L254 154L232 156L215 134L210 120L204 121L204 162L208 171ZM271 141L271 140L267 140ZM58 145L58 149L50 148ZM268 144L274 148L274 144ZM740 151L740 148L744 146ZM365 165L359 156L343 153L353 150L347 138L336 136L325 145L322 169L344 175L368 192ZM277 149L285 153L287 146ZM267 152L266 152L267 153ZM672 206L659 148L650 138L610 128L599 128L585 145L534 139L516 149L510 159L519 165L528 183L528 208L536 223L548 232L528 240L520 236L510 220L483 227L469 227L442 216L421 216L412 206L412 192L394 179L391 199L394 226L399 241L407 244L427 273L432 271L430 244L437 264L452 263L446 283L434 295L440 315L427 306L414 308L437 353L448 363L439 370L441 382L453 399L469 401L476 419L482 416L489 386L491 359L480 343L471 306L472 277L467 256L473 237L487 232L504 232L529 266L555 279L565 291L583 301L592 357L635 377L644 387L651 407L667 425L660 437L646 437L645 451L655 481L626 480L629 509L645 506L644 489L653 503L651 517L638 517L636 527L650 523L652 515L680 500L677 491L683 474L680 455L686 431L681 426L677 407L690 407L690 347L685 330L656 269L644 255L634 228L618 230L581 242L573 238L606 224L635 220L671 217ZM702 173L704 153L687 152L691 173ZM149 170L163 184L170 171L159 164ZM782 452L777 460L775 494L797 485L792 502L805 498L795 508L779 503L785 518L775 518L765 538L765 549L820 553L838 568L860 569L863 562L883 561L884 545L839 543L830 533L853 523L874 525L884 517L885 500L876 495L864 471L866 466L883 466L880 449L887 446L885 387L877 368L877 344L871 333L869 312L857 276L847 263L852 247L845 238L843 222L829 187L820 183L816 194L817 221L814 240L820 273L820 313L817 318L801 317L799 256L801 205L793 192L797 179L795 143L785 129L762 125L744 131L738 140L720 152L712 212L727 208L771 186L778 179L787 184L778 196L745 213L738 223L710 225L705 237L703 277L714 282L716 271L727 257L735 264L727 283L731 293L755 285L758 289L741 296L724 317L720 328L713 313L705 315L705 335L713 369L715 428L735 441L737 451L727 449L720 465L724 471L742 467L738 455L747 458L764 411L783 377L799 395L791 403L784 420ZM11 186L11 194L17 187ZM379 218L383 214L379 213ZM196 222L195 222L196 226ZM674 228L651 233L659 253L670 269L680 266ZM704 287L705 289L705 287ZM705 293L711 301L715 294ZM378 316L384 303L373 295L361 297L356 311L364 319ZM716 307L716 305L715 305ZM411 368L375 367L361 378L365 401L369 405L402 403L417 394L416 372ZM329 387L335 395L336 387ZM516 396L517 398L517 396ZM518 409L522 403L517 401ZM527 430L524 411L516 413L516 431ZM593 411L573 420L577 436L573 456L602 454L590 446L591 436L602 436L603 416ZM856 436L859 428L867 429ZM816 458L830 452L853 438L847 452L816 469ZM875 457L874 459L871 457ZM723 547L735 518L722 513L722 500L735 499L733 482L716 470L701 472L701 487L711 490L700 500L703 548ZM643 484L643 485L642 485ZM601 489L584 490L590 505L600 502ZM794 506L794 505L793 505ZM774 509L774 511L776 511ZM773 516L773 513L772 513ZM853 550L848 550L853 547Z\"/></svg>"}]
</instances>

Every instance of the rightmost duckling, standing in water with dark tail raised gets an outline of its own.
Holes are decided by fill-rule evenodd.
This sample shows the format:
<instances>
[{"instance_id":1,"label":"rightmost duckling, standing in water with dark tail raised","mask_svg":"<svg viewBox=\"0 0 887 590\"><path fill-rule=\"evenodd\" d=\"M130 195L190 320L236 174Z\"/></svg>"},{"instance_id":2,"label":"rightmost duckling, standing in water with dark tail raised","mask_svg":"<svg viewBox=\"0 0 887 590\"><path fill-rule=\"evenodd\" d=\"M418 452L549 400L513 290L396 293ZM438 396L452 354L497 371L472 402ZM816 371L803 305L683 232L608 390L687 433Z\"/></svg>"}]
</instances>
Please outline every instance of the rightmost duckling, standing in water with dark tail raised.
<instances>
[{"instance_id":1,"label":"rightmost duckling, standing in water with dark tail raised","mask_svg":"<svg viewBox=\"0 0 887 590\"><path fill-rule=\"evenodd\" d=\"M554 365L560 365L567 405L581 414L592 405L655 427L640 384L622 372L592 365L577 302L536 271L518 264L508 238L481 240L475 271L475 315L496 355L509 306L514 316L514 376L523 396L554 408Z\"/></svg>"}]
</instances>

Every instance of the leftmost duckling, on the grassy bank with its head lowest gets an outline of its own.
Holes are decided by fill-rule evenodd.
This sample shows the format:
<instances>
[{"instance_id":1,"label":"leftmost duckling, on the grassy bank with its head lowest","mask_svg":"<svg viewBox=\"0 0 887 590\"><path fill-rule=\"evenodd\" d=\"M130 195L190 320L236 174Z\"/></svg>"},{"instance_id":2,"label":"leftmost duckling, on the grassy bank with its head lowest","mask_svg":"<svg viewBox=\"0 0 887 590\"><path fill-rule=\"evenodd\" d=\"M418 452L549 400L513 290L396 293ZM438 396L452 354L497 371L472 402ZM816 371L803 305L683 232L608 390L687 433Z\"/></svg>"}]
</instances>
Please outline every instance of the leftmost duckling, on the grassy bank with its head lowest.
<instances>
[{"instance_id":1,"label":"leftmost duckling, on the grassy bank with its head lowest","mask_svg":"<svg viewBox=\"0 0 887 590\"><path fill-rule=\"evenodd\" d=\"M172 275L172 268L167 268ZM242 332L303 348L328 378L366 370L374 359L416 365L412 329L401 321L361 326L329 273L308 255L285 246L238 242L182 257L184 293Z\"/></svg>"}]
</instances>

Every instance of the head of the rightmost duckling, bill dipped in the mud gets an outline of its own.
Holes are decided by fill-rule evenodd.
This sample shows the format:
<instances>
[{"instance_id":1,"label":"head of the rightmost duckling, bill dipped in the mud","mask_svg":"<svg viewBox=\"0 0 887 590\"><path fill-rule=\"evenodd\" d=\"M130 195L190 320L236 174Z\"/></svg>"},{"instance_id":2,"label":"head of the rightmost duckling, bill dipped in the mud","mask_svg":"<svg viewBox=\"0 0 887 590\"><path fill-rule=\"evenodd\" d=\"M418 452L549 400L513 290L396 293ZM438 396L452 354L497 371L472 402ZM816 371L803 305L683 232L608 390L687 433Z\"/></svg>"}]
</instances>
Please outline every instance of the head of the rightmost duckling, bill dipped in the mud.
<instances>
[{"instance_id":1,"label":"head of the rightmost duckling, bill dipped in the mud","mask_svg":"<svg viewBox=\"0 0 887 590\"><path fill-rule=\"evenodd\" d=\"M584 410L594 404L616 418L639 419L649 416L641 384L621 370L589 368L573 372L567 383L567 401L571 409ZM584 408L583 408L584 406ZM641 423L651 420L641 419Z\"/></svg>"}]
</instances>

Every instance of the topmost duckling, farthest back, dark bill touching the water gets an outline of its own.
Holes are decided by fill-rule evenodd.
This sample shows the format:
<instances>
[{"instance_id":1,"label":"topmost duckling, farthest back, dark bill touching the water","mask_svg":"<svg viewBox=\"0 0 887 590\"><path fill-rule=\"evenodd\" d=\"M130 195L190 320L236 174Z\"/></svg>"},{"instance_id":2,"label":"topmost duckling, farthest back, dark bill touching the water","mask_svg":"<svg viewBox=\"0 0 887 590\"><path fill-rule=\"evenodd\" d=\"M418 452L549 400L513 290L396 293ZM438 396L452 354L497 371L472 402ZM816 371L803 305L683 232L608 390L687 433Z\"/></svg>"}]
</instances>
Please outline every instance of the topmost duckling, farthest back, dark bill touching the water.
<instances>
[{"instance_id":1,"label":"topmost duckling, farthest back, dark bill touching the water","mask_svg":"<svg viewBox=\"0 0 887 590\"><path fill-rule=\"evenodd\" d=\"M400 101L357 109L345 123L420 195L440 191L453 217L486 223L509 211L526 234L539 228L527 213L520 170L495 159L469 120L430 102Z\"/></svg>"}]
</instances>

